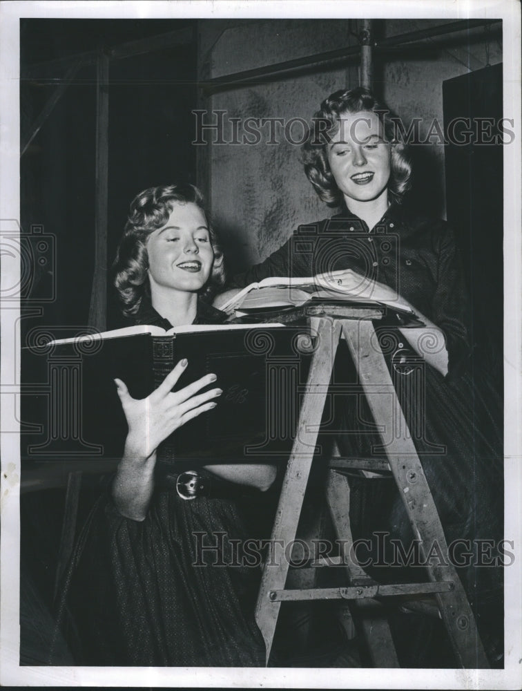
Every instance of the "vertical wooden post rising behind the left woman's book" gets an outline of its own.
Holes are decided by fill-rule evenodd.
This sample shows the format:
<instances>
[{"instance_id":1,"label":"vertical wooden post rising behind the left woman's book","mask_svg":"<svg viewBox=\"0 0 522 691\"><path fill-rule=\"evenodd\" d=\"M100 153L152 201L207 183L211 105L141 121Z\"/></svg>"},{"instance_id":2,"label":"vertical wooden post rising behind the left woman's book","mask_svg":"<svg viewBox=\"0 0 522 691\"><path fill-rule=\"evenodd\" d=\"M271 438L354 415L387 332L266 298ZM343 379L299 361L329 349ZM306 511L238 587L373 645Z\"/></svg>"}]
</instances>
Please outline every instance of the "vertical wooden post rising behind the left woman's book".
<instances>
[{"instance_id":1,"label":"vertical wooden post rising behind the left woman's book","mask_svg":"<svg viewBox=\"0 0 522 691\"><path fill-rule=\"evenodd\" d=\"M95 268L89 325L100 331L106 330L107 324L108 74L108 55L99 53L96 87Z\"/></svg>"}]
</instances>

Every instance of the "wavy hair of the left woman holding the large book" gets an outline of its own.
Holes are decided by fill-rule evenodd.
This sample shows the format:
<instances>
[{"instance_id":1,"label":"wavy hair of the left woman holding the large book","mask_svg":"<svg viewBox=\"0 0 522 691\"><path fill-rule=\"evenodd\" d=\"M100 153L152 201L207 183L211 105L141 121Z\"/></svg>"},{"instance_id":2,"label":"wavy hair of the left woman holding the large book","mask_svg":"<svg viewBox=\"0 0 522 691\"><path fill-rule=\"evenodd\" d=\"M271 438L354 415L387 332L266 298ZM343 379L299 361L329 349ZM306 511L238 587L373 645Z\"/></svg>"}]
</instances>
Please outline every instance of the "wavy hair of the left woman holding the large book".
<instances>
[{"instance_id":1,"label":"wavy hair of the left woman holding the large book","mask_svg":"<svg viewBox=\"0 0 522 691\"><path fill-rule=\"evenodd\" d=\"M136 314L143 296L151 294L147 273L147 240L153 231L165 225L176 203L195 204L205 214L202 193L192 184L149 187L140 192L131 203L130 214L113 263L113 283L125 316ZM224 285L225 278L223 253L210 225L209 235L214 262L209 281L200 292L200 297L206 301Z\"/></svg>"}]
</instances>

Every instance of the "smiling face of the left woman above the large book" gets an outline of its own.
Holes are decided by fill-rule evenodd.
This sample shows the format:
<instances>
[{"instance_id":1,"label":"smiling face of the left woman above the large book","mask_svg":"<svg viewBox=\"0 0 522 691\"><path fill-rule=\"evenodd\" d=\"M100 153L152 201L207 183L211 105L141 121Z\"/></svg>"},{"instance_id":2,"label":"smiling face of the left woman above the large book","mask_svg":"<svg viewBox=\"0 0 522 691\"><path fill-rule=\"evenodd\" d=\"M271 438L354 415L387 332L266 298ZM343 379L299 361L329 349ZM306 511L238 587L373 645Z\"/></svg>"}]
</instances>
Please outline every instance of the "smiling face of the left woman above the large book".
<instances>
[{"instance_id":1,"label":"smiling face of the left woman above the large book","mask_svg":"<svg viewBox=\"0 0 522 691\"><path fill-rule=\"evenodd\" d=\"M198 292L209 280L214 252L205 215L193 202L174 202L171 215L147 240L151 294Z\"/></svg>"}]
</instances>

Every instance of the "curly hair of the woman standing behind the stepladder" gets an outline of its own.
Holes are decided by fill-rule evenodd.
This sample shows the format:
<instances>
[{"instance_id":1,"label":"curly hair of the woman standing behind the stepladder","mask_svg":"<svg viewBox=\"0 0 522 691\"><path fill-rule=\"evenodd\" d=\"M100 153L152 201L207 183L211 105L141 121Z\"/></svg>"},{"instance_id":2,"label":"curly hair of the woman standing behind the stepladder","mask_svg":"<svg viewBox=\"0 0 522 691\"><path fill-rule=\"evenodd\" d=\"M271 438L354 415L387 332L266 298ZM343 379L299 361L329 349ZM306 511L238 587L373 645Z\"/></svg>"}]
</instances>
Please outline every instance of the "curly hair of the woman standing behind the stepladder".
<instances>
[{"instance_id":1,"label":"curly hair of the woman standing behind the stepladder","mask_svg":"<svg viewBox=\"0 0 522 691\"><path fill-rule=\"evenodd\" d=\"M384 126L385 141L392 146L392 172L388 194L392 201L400 203L411 185L412 164L409 160L403 132L394 116L384 104L378 102L369 89L358 86L350 91L336 91L326 98L313 116L310 135L303 145L302 162L305 173L320 199L330 207L342 202L342 192L331 172L327 144L337 133L340 117L345 113L361 111L376 113Z\"/></svg>"}]
</instances>

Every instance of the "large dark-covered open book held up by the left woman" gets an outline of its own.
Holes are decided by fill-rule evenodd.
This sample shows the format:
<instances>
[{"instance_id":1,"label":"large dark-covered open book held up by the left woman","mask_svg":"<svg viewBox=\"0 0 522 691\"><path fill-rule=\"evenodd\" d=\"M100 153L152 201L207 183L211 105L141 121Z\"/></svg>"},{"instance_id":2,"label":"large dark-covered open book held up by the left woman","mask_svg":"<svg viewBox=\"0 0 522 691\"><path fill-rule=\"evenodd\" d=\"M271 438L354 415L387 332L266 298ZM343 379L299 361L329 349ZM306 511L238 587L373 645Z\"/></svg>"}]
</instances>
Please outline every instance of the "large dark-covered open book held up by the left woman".
<instances>
[{"instance_id":1,"label":"large dark-covered open book held up by the left woman","mask_svg":"<svg viewBox=\"0 0 522 691\"><path fill-rule=\"evenodd\" d=\"M144 399L186 358L173 390L213 372L218 379L204 390L219 386L222 395L213 410L165 439L162 460L191 467L266 455L287 460L307 382L309 341L302 326L225 323L168 333L139 325L28 345L21 349L21 457L121 458L127 424L114 379Z\"/></svg>"}]
</instances>

